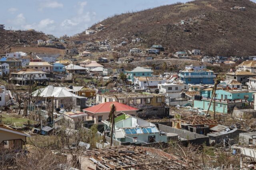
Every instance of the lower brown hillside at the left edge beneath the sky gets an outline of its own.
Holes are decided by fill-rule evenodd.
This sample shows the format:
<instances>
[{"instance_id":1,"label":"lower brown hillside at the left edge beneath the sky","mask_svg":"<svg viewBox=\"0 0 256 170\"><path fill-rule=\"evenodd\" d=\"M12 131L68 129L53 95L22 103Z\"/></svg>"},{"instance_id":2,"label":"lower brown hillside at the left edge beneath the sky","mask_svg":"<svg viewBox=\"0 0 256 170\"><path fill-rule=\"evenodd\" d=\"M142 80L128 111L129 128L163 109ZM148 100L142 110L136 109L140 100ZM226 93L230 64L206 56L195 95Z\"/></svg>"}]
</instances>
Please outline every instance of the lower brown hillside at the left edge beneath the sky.
<instances>
[{"instance_id":1,"label":"lower brown hillside at the left edge beneath the sky","mask_svg":"<svg viewBox=\"0 0 256 170\"><path fill-rule=\"evenodd\" d=\"M38 39L47 40L44 33L37 31L10 31L0 29L0 54L4 54L12 45L19 45L18 39L26 39L28 44ZM22 43L23 44L23 43Z\"/></svg>"}]
</instances>

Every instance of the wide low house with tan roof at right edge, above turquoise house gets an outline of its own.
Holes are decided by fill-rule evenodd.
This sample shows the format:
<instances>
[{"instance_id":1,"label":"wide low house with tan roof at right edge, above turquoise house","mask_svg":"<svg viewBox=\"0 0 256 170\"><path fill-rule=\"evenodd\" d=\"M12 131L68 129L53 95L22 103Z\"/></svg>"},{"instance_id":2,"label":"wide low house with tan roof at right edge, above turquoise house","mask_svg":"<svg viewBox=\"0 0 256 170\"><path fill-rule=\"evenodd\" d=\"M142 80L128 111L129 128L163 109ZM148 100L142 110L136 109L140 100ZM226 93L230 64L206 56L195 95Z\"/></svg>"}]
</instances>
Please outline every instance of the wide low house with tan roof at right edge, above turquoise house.
<instances>
[{"instance_id":1,"label":"wide low house with tan roof at right edge, above turquoise house","mask_svg":"<svg viewBox=\"0 0 256 170\"><path fill-rule=\"evenodd\" d=\"M243 85L246 84L246 82L249 82L250 77L256 76L256 73L247 72L247 71L237 71L237 72L229 72L226 73L226 80L236 80Z\"/></svg>"}]
</instances>

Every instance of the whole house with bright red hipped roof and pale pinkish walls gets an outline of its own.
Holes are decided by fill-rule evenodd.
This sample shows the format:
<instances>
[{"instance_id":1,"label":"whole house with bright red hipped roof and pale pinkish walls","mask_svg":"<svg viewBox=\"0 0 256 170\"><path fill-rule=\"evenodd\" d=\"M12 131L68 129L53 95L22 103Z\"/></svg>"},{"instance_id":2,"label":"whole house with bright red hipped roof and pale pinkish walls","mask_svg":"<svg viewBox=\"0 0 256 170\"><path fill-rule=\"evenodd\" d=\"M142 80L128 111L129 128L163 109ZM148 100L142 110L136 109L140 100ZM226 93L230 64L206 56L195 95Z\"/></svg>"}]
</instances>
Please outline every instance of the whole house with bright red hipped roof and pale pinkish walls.
<instances>
[{"instance_id":1,"label":"whole house with bright red hipped roof and pale pinkish walls","mask_svg":"<svg viewBox=\"0 0 256 170\"><path fill-rule=\"evenodd\" d=\"M108 119L108 115L113 104L116 107L115 114L124 112L128 115L136 115L136 111L138 111L137 108L119 102L104 102L96 106L83 109L84 113L87 114L86 120L94 120L95 124L102 124L103 120Z\"/></svg>"}]
</instances>

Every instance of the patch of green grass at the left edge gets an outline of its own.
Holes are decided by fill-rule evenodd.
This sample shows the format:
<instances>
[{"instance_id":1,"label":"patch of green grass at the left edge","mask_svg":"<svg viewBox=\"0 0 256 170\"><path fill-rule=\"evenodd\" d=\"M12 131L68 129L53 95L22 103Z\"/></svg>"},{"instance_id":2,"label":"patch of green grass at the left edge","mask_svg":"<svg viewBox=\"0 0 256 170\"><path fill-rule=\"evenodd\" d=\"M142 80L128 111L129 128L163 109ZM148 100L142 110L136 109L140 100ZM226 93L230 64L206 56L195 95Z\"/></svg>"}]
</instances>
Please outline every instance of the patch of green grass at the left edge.
<instances>
[{"instance_id":1,"label":"patch of green grass at the left edge","mask_svg":"<svg viewBox=\"0 0 256 170\"><path fill-rule=\"evenodd\" d=\"M2 122L6 125L12 125L14 126L14 123L17 127L21 127L23 125L23 123L28 123L28 121L30 121L30 124L32 123L37 123L36 121L30 120L26 117L22 117L22 115L17 115L17 114L7 114L7 113L1 113L0 115L2 115L3 119Z\"/></svg>"}]
</instances>

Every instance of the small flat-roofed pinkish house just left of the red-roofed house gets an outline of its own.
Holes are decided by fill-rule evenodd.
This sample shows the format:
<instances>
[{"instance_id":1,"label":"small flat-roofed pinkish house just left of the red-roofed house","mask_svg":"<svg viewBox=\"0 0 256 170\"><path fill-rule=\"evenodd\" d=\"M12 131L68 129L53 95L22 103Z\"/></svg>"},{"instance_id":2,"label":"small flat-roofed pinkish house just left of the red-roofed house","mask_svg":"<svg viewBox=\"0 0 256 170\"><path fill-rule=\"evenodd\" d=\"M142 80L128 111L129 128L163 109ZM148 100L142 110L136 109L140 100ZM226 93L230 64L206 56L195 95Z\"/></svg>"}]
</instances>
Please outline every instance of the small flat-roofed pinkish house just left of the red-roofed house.
<instances>
[{"instance_id":1,"label":"small flat-roofed pinkish house just left of the red-roofed house","mask_svg":"<svg viewBox=\"0 0 256 170\"><path fill-rule=\"evenodd\" d=\"M64 119L68 121L69 127L76 129L86 121L87 114L81 111L63 112Z\"/></svg>"}]
</instances>

